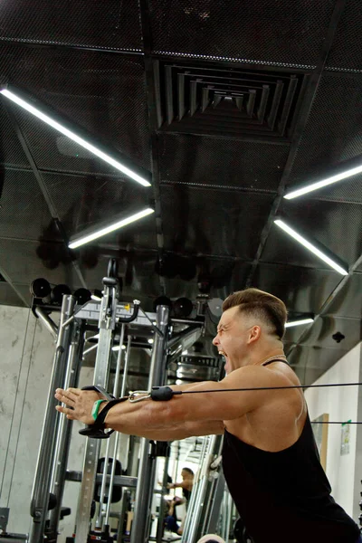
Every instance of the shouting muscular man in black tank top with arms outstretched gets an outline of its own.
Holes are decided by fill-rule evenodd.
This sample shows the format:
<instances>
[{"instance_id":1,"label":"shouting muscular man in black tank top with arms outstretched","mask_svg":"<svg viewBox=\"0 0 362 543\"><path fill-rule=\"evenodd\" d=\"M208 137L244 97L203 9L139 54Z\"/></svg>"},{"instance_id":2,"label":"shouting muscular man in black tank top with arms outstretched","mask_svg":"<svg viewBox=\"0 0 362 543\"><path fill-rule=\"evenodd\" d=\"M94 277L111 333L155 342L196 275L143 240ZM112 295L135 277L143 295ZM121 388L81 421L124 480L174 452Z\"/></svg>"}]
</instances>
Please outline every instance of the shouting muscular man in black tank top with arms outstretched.
<instances>
[{"instance_id":1,"label":"shouting muscular man in black tank top with arms outstretched","mask_svg":"<svg viewBox=\"0 0 362 543\"><path fill-rule=\"evenodd\" d=\"M125 402L110 409L106 425L164 441L224 433L224 476L255 543L357 543L362 541L357 524L330 496L301 389L268 389L300 386L283 353L286 319L283 302L267 292L233 293L224 301L214 338L227 376L219 383L172 387L266 390ZM93 423L90 413L98 394L58 389L56 397L72 408L58 406L58 411Z\"/></svg>"}]
</instances>

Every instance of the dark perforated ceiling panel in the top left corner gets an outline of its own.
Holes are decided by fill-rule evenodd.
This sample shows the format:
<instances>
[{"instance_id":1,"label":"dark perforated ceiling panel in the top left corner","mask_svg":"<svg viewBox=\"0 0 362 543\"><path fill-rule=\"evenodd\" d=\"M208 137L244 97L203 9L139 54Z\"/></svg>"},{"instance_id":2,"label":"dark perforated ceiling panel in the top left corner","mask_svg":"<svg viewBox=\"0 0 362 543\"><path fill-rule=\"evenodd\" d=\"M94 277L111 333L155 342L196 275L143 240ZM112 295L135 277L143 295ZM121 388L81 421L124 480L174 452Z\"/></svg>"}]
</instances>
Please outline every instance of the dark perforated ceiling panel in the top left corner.
<instances>
[{"instance_id":1,"label":"dark perforated ceiling panel in the top left corner","mask_svg":"<svg viewBox=\"0 0 362 543\"><path fill-rule=\"evenodd\" d=\"M139 51L138 1L14 0L0 8L0 39Z\"/></svg>"}]
</instances>

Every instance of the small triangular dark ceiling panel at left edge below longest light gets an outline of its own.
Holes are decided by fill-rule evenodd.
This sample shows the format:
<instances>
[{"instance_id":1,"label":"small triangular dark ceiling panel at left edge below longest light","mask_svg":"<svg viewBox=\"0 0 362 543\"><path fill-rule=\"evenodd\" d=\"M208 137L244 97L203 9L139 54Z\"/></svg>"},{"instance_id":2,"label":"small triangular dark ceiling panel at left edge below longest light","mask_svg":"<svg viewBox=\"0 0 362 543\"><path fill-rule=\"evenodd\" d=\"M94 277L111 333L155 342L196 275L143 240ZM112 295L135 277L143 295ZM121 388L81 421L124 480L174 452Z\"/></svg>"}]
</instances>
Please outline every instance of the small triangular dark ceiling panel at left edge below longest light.
<instances>
[{"instance_id":1,"label":"small triangular dark ceiling panel at left edge below longest light","mask_svg":"<svg viewBox=\"0 0 362 543\"><path fill-rule=\"evenodd\" d=\"M29 161L16 137L2 100L0 100L0 164L30 169Z\"/></svg>"}]
</instances>

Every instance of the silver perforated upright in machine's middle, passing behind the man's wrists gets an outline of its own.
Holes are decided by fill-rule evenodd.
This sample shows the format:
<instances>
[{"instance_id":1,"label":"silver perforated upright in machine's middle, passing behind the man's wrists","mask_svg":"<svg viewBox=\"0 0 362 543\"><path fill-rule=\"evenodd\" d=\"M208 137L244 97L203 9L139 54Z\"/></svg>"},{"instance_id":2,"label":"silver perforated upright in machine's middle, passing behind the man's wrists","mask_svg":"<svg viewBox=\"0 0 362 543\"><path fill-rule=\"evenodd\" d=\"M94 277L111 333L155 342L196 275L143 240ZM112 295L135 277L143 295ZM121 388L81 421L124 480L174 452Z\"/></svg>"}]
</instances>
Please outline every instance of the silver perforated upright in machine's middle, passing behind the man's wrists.
<instances>
[{"instance_id":1,"label":"silver perforated upright in machine's middle, passing behind the man's wrists","mask_svg":"<svg viewBox=\"0 0 362 543\"><path fill-rule=\"evenodd\" d=\"M100 302L100 338L94 367L93 384L107 388L110 375L110 347L116 326L116 289L104 284L104 296ZM100 440L87 438L81 492L78 502L76 543L85 543L90 529L90 506L93 500L96 470L100 456ZM34 542L35 543L35 542Z\"/></svg>"}]
</instances>

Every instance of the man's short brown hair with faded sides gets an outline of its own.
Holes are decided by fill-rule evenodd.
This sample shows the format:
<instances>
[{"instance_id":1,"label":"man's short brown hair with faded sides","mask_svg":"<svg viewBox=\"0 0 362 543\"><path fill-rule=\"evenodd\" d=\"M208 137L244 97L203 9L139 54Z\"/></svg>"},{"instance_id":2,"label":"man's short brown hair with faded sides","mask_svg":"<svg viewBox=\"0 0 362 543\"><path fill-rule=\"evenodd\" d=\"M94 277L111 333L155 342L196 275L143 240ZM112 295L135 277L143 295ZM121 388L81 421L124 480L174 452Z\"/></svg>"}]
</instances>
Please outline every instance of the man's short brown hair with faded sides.
<instances>
[{"instance_id":1,"label":"man's short brown hair with faded sides","mask_svg":"<svg viewBox=\"0 0 362 543\"><path fill-rule=\"evenodd\" d=\"M271 333L278 338L281 339L284 336L288 311L284 302L276 296L259 289L245 289L230 294L224 300L223 311L236 306L243 315L261 319L265 324L270 325Z\"/></svg>"}]
</instances>

